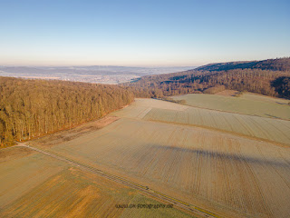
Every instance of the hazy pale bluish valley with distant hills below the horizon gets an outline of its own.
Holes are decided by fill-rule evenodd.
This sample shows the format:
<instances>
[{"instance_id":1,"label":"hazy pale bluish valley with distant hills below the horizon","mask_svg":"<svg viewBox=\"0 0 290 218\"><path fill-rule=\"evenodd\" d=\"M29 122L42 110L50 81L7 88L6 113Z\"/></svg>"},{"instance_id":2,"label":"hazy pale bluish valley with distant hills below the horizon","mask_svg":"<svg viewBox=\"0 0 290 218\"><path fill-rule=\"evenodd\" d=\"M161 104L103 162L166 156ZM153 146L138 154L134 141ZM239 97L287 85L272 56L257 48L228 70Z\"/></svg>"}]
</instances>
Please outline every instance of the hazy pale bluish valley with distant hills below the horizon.
<instances>
[{"instance_id":1,"label":"hazy pale bluish valley with distant hills below the horizon","mask_svg":"<svg viewBox=\"0 0 290 218\"><path fill-rule=\"evenodd\" d=\"M120 84L136 80L142 75L169 74L193 68L195 66L0 66L0 76L54 79L92 84Z\"/></svg>"}]
</instances>

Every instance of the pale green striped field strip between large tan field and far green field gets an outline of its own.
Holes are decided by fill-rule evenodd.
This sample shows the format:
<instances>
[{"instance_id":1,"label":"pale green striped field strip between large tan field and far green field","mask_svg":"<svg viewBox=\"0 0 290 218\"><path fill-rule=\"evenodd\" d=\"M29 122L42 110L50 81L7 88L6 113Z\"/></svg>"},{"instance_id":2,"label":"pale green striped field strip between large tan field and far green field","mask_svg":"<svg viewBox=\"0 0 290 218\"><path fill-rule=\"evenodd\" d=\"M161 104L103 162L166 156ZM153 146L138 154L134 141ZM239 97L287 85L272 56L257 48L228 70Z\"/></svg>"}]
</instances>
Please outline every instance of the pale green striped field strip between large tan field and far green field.
<instances>
[{"instance_id":1,"label":"pale green striped field strip between large tan field and far green field","mask_svg":"<svg viewBox=\"0 0 290 218\"><path fill-rule=\"evenodd\" d=\"M232 114L200 108L186 111L153 108L144 120L189 124L290 145L290 121Z\"/></svg>"}]
</instances>

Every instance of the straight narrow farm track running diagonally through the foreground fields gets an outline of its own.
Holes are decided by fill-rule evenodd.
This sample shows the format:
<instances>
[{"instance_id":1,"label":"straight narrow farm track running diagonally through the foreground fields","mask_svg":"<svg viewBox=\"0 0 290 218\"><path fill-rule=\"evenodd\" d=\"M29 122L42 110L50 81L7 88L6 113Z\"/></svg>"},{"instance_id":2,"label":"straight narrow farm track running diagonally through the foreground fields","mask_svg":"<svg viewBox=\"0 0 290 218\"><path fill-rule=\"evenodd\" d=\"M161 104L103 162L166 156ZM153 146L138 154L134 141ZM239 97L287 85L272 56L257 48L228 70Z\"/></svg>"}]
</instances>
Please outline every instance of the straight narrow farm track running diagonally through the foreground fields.
<instances>
[{"instance_id":1,"label":"straight narrow farm track running diagonally through the foreground fields","mask_svg":"<svg viewBox=\"0 0 290 218\"><path fill-rule=\"evenodd\" d=\"M60 161L63 161L63 162L66 162L66 163L70 163L73 166L77 166L78 168L80 168L82 170L101 175L102 177L105 177L105 178L107 178L107 179L109 179L111 181L125 184L125 185L127 185L127 186L129 186L129 187L131 187L133 189L136 189L136 190L140 191L140 193L143 193L143 194L145 194L147 196L153 197L153 198L158 199L158 200L160 200L162 202L172 203L172 204L174 204L175 207L178 207L178 208L180 208L182 210L185 210L188 213L193 214L196 217L215 217L215 218L221 217L220 215L218 215L216 213L211 213L211 212L209 212L207 210L199 208L198 206L194 206L192 204L185 203L183 201L180 201L178 199L170 197L167 194L154 191L154 190L150 189L148 186L143 186L143 185L140 185L138 183L133 183L133 182L131 182L131 181L127 180L127 179L124 179L124 178L122 178L120 176L113 175L111 173L103 172L102 170L93 168L92 166L89 166L89 165L84 164L84 163L76 162L76 161L74 161L72 159L68 159L68 158L66 158L66 157L64 157L62 155L54 154L54 153L48 152L48 151L43 151L42 149L35 148L33 146L26 145L26 144L17 144L15 146L29 148L31 150L34 150L36 152L48 155L48 156L53 157L55 159L58 159Z\"/></svg>"}]
</instances>

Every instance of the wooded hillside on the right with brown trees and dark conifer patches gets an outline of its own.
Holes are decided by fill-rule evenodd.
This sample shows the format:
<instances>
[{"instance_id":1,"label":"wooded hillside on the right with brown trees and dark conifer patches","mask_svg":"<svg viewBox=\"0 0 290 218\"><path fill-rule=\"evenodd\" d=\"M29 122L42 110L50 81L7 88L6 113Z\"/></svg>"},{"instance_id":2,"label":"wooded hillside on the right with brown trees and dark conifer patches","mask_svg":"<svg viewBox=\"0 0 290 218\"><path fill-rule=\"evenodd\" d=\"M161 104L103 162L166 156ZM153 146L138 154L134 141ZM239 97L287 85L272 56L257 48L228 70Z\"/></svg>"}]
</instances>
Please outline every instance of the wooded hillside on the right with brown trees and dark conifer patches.
<instances>
[{"instance_id":1,"label":"wooded hillside on the right with brown trees and dark conifer patches","mask_svg":"<svg viewBox=\"0 0 290 218\"><path fill-rule=\"evenodd\" d=\"M253 62L256 64L256 62ZM254 64L247 64L253 66ZM221 69L230 68L220 64ZM233 63L229 63L232 66ZM263 67L262 67L263 65ZM134 83L125 84L137 97L163 97L176 94L210 93L220 87L247 91L268 96L290 98L290 58L270 59L244 68L236 64L235 69L220 70L208 65L174 74L142 76ZM267 69L269 68L269 69ZM274 70L275 69L275 70ZM213 87L216 87L213 89ZM208 90L209 89L209 90Z\"/></svg>"}]
</instances>

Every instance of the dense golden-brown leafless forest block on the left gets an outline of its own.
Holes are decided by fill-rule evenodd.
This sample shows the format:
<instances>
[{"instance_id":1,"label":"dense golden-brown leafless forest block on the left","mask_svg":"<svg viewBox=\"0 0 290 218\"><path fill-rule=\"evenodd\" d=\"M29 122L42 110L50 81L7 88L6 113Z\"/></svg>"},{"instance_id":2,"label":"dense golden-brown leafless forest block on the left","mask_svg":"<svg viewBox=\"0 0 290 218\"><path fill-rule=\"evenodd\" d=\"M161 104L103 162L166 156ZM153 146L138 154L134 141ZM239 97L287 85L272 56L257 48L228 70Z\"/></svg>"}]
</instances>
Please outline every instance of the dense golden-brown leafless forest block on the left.
<instances>
[{"instance_id":1,"label":"dense golden-brown leafless forest block on the left","mask_svg":"<svg viewBox=\"0 0 290 218\"><path fill-rule=\"evenodd\" d=\"M133 101L117 85L0 77L0 144L29 140L102 117Z\"/></svg>"}]
</instances>

